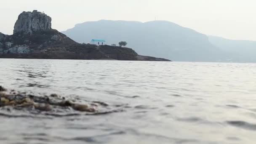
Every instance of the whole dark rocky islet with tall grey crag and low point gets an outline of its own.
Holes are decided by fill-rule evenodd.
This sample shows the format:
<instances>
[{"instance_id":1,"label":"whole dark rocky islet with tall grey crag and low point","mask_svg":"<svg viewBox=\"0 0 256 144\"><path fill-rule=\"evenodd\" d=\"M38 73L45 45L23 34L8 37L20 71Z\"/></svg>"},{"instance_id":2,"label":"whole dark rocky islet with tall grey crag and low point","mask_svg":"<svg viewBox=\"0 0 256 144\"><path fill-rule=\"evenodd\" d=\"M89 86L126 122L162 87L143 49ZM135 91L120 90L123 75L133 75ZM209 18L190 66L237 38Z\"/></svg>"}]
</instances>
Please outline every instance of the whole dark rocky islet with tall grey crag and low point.
<instances>
[{"instance_id":1,"label":"whole dark rocky islet with tall grey crag and low point","mask_svg":"<svg viewBox=\"0 0 256 144\"><path fill-rule=\"evenodd\" d=\"M19 15L13 35L0 33L0 58L170 61L140 56L131 48L77 43L52 29L51 17L36 10Z\"/></svg>"}]
</instances>

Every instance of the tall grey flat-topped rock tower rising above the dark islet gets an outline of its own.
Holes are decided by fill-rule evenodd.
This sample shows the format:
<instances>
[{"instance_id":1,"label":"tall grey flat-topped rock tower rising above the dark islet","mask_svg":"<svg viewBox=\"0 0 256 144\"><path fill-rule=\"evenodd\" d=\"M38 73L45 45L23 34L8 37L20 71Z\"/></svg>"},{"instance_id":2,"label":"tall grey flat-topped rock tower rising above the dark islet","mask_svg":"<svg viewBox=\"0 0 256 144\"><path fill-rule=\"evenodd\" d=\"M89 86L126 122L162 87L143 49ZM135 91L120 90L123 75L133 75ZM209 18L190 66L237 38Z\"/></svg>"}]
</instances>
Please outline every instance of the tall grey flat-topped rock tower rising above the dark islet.
<instances>
[{"instance_id":1,"label":"tall grey flat-topped rock tower rising above the dark islet","mask_svg":"<svg viewBox=\"0 0 256 144\"><path fill-rule=\"evenodd\" d=\"M19 15L14 25L13 34L29 34L40 30L51 29L51 17L45 13L34 10L33 12L23 12Z\"/></svg>"}]
</instances>

